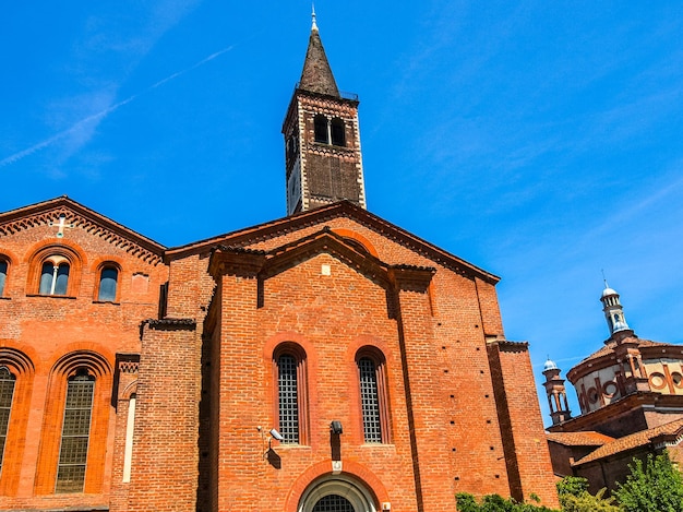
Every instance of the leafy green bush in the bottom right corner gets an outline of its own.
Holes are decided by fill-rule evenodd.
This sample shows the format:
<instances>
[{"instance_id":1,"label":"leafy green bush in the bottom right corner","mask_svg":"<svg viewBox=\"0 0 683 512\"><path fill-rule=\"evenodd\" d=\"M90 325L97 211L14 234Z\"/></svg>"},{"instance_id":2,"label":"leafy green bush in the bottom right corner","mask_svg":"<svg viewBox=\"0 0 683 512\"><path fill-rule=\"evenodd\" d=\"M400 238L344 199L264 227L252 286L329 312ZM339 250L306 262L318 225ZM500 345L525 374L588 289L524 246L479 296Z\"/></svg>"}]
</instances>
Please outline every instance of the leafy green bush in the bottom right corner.
<instances>
[{"instance_id":1,"label":"leafy green bush in the bottom right corner","mask_svg":"<svg viewBox=\"0 0 683 512\"><path fill-rule=\"evenodd\" d=\"M616 484L615 496L624 512L683 512L683 478L669 453L634 459L626 481Z\"/></svg>"}]
</instances>

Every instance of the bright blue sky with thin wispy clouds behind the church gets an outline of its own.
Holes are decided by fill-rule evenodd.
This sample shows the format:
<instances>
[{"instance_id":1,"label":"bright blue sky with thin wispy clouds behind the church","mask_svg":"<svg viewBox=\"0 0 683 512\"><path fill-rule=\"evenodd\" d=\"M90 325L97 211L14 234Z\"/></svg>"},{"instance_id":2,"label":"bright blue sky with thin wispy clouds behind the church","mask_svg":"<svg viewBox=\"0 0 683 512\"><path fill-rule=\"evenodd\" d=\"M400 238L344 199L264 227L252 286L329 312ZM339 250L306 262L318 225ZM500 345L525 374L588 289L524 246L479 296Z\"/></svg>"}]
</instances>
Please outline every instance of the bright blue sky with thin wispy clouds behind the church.
<instances>
[{"instance_id":1,"label":"bright blue sky with thin wispy clouds behind the church","mask_svg":"<svg viewBox=\"0 0 683 512\"><path fill-rule=\"evenodd\" d=\"M683 3L315 8L369 210L502 276L539 382L608 337L601 270L640 337L683 342ZM284 216L310 10L8 3L0 211L68 194L166 246Z\"/></svg>"}]
</instances>

